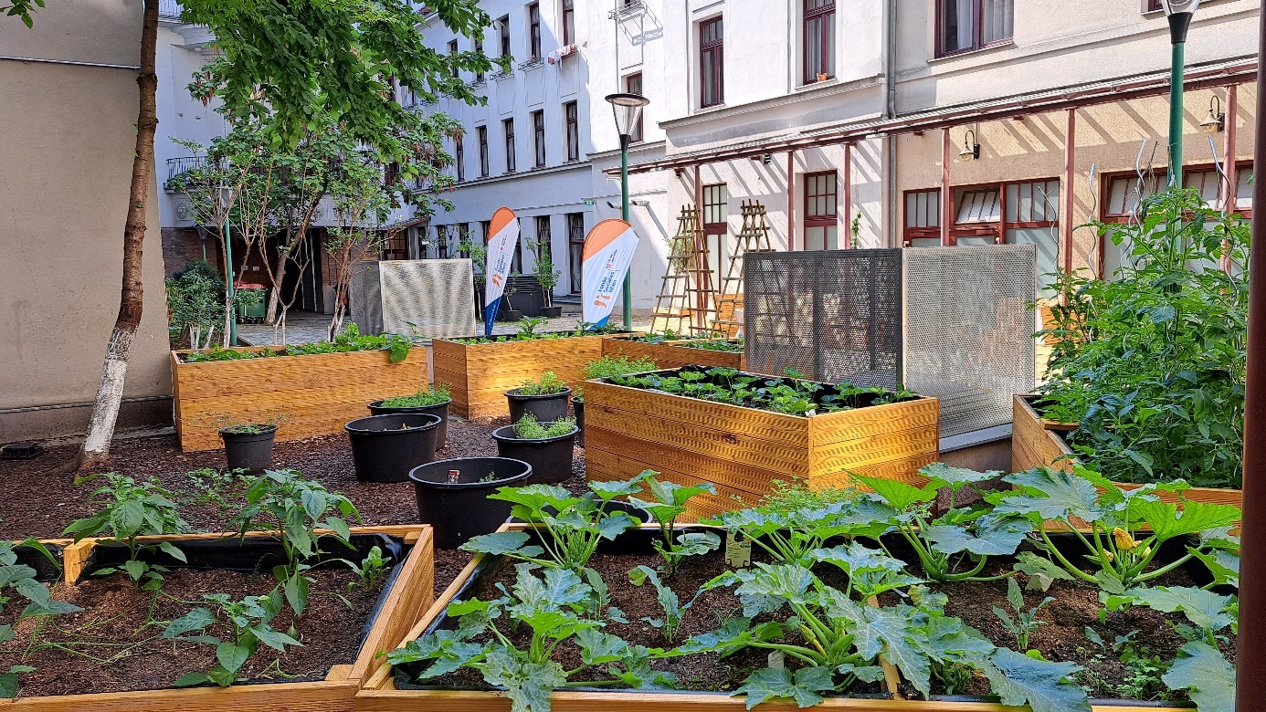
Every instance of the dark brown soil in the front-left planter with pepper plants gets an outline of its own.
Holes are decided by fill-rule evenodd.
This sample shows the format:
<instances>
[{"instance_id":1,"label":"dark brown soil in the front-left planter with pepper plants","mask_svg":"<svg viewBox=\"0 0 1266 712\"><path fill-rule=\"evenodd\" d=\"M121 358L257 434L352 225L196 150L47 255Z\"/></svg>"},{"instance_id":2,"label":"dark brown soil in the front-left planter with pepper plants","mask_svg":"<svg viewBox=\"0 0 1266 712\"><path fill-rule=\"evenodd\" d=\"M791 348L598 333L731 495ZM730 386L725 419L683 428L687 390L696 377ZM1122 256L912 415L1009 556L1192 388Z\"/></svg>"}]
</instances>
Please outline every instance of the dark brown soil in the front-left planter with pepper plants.
<instances>
[{"instance_id":1,"label":"dark brown soil in the front-left planter with pepper plants","mask_svg":"<svg viewBox=\"0 0 1266 712\"><path fill-rule=\"evenodd\" d=\"M242 678L324 679L332 665L356 660L381 588L366 589L348 570L318 570L311 575L315 582L304 615L295 618L287 607L272 621L272 627L282 632L294 625L296 632L291 635L303 646L280 654L260 645L242 668ZM352 582L357 586L348 591ZM84 611L23 621L15 639L0 646L0 668L35 668L22 675L22 697L170 688L186 673L213 668L215 646L161 639L167 621L201 606L204 593L228 593L239 599L267 593L275 586L268 574L195 569L171 572L161 592L141 591L125 574L87 578L77 586L58 583L54 598ZM9 608L4 622L11 622L20 611ZM223 623L206 632L230 636Z\"/></svg>"}]
</instances>

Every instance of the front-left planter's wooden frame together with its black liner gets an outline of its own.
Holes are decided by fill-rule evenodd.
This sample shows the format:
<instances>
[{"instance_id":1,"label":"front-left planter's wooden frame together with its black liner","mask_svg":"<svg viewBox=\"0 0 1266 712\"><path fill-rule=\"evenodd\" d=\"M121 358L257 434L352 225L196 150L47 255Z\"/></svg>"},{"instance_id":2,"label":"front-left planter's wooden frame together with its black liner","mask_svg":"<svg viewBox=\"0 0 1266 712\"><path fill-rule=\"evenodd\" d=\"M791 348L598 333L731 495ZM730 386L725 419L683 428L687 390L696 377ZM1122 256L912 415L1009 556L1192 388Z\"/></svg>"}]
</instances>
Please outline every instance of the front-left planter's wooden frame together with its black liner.
<instances>
[{"instance_id":1,"label":"front-left planter's wooden frame together with its black liner","mask_svg":"<svg viewBox=\"0 0 1266 712\"><path fill-rule=\"evenodd\" d=\"M363 406L362 406L363 407ZM328 534L328 532L327 532ZM391 650L406 631L430 607L434 580L434 556L430 527L384 526L353 527L357 551L373 545L395 559L394 570L384 584L379 605L370 616L356 660L334 665L324 679L284 683L251 683L227 688L171 688L56 697L25 697L0 701L0 709L14 712L63 712L66 709L99 709L128 712L203 712L237 709L241 712L352 712L354 696L363 680L382 664L379 651ZM171 541L189 556L190 564L154 559L170 568L214 568L232 570L266 570L280 558L280 544L270 532L249 532L239 544L235 534L192 534L139 537L142 543ZM62 553L67 583L125 555L113 543L84 540L66 545ZM342 544L324 546L333 555L353 554ZM363 553L361 554L363 556ZM337 565L337 564L332 564Z\"/></svg>"}]
</instances>

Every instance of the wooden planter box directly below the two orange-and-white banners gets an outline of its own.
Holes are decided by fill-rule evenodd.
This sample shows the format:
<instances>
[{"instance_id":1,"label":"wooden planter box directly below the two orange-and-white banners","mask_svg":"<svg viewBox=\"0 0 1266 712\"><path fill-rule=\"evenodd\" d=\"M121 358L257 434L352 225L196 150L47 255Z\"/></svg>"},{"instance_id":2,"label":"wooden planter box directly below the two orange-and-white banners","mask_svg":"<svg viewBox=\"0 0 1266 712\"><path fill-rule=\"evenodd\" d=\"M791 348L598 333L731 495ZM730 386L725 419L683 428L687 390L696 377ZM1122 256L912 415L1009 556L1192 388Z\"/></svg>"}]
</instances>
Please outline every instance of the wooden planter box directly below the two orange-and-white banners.
<instances>
[{"instance_id":1,"label":"wooden planter box directly below the two orange-and-white banners","mask_svg":"<svg viewBox=\"0 0 1266 712\"><path fill-rule=\"evenodd\" d=\"M524 381L553 371L573 388L585 379L585 364L601 358L603 341L610 336L566 336L534 341L490 341L461 344L432 341L437 383L452 388L448 412L461 417L509 415L505 392Z\"/></svg>"}]
</instances>

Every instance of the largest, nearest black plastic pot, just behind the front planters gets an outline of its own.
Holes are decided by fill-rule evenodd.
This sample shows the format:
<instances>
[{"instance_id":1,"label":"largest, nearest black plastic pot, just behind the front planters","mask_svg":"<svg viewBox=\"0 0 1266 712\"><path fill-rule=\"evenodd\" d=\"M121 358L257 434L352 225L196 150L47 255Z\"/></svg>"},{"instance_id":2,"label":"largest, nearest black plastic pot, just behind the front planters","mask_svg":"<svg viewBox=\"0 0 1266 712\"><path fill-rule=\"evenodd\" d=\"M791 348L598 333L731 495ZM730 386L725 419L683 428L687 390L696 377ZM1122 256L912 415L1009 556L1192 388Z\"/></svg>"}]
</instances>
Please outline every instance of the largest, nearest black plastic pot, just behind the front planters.
<instances>
[{"instance_id":1,"label":"largest, nearest black plastic pot, just behind the front planters","mask_svg":"<svg viewBox=\"0 0 1266 712\"><path fill-rule=\"evenodd\" d=\"M529 477L532 465L506 458L436 460L409 473L418 521L433 527L439 549L457 549L472 536L496 531L510 517L511 505L487 496L498 487L522 487Z\"/></svg>"}]
</instances>

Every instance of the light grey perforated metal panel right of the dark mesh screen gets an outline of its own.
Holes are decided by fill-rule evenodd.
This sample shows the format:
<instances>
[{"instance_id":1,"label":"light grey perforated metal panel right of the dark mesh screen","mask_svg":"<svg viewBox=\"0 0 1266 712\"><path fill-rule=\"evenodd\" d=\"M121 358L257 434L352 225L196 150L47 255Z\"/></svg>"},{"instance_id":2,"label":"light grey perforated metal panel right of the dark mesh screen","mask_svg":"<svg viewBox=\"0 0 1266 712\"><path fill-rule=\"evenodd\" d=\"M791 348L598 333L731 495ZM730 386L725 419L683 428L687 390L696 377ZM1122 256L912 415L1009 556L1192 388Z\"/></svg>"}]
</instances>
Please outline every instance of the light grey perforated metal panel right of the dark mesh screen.
<instances>
[{"instance_id":1,"label":"light grey perforated metal panel right of the dark mesh screen","mask_svg":"<svg viewBox=\"0 0 1266 712\"><path fill-rule=\"evenodd\" d=\"M1012 421L1036 382L1037 248L905 250L905 384L941 398L941 436Z\"/></svg>"}]
</instances>

